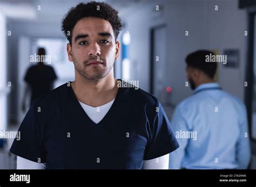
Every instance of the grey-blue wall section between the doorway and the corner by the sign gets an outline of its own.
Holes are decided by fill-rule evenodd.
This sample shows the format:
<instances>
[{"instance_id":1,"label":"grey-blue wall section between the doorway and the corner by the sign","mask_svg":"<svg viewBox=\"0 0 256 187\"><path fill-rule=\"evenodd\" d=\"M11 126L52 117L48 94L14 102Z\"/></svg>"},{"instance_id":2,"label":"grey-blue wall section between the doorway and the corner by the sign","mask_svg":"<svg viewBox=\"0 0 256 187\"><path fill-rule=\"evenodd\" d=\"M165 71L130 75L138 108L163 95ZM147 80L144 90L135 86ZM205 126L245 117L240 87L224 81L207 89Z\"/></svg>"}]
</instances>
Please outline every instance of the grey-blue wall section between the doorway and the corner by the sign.
<instances>
[{"instance_id":1,"label":"grey-blue wall section between the doorway and the corner by the sign","mask_svg":"<svg viewBox=\"0 0 256 187\"><path fill-rule=\"evenodd\" d=\"M166 22L169 30L167 38L168 57L166 81L173 88L170 102L174 105L191 94L185 87L185 57L188 53L207 48L207 28L204 20L205 1L171 1L166 4ZM185 32L188 31L188 36Z\"/></svg>"}]
</instances>

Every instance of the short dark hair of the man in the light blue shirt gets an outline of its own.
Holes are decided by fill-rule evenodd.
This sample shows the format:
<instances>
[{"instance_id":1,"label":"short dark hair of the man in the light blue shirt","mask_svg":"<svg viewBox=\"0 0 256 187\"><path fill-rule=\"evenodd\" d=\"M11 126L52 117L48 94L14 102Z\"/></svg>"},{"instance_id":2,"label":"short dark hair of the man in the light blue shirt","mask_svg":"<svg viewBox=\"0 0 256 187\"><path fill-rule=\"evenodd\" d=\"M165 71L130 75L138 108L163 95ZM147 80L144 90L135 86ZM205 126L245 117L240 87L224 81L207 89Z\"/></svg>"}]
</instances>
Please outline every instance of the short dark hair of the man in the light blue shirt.
<instances>
[{"instance_id":1,"label":"short dark hair of the man in the light blue shirt","mask_svg":"<svg viewBox=\"0 0 256 187\"><path fill-rule=\"evenodd\" d=\"M210 54L215 55L213 52L206 50L199 50L188 54L186 57L187 66L192 68L198 68L204 71L204 73L208 75L208 77L213 78L216 73L217 63L206 62L206 55L210 56Z\"/></svg>"}]
</instances>

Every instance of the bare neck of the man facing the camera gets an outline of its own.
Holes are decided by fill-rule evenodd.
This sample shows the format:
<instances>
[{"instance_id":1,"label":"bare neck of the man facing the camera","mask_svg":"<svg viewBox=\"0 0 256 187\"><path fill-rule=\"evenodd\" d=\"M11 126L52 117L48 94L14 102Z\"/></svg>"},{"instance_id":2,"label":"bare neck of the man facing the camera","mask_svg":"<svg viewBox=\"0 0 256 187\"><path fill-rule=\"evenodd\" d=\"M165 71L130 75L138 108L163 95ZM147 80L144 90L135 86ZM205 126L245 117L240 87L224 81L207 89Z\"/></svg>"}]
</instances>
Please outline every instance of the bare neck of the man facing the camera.
<instances>
[{"instance_id":1,"label":"bare neck of the man facing the camera","mask_svg":"<svg viewBox=\"0 0 256 187\"><path fill-rule=\"evenodd\" d=\"M100 80L93 81L76 77L71 87L80 102L93 107L109 103L116 98L118 91L117 80L111 73Z\"/></svg>"}]
</instances>

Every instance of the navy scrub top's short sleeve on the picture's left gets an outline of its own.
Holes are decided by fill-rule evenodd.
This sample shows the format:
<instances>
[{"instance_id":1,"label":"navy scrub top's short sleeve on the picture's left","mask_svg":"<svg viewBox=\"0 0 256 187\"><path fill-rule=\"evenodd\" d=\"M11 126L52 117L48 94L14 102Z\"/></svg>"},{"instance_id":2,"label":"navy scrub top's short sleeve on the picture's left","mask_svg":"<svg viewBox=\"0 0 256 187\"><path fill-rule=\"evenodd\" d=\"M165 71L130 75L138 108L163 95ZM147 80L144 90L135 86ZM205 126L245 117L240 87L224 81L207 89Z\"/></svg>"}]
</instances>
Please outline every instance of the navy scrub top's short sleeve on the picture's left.
<instances>
[{"instance_id":1,"label":"navy scrub top's short sleeve on the picture's left","mask_svg":"<svg viewBox=\"0 0 256 187\"><path fill-rule=\"evenodd\" d=\"M19 126L17 133L20 134L14 139L10 152L33 162L44 163L43 132L37 124L35 102L33 101L21 126Z\"/></svg>"}]
</instances>

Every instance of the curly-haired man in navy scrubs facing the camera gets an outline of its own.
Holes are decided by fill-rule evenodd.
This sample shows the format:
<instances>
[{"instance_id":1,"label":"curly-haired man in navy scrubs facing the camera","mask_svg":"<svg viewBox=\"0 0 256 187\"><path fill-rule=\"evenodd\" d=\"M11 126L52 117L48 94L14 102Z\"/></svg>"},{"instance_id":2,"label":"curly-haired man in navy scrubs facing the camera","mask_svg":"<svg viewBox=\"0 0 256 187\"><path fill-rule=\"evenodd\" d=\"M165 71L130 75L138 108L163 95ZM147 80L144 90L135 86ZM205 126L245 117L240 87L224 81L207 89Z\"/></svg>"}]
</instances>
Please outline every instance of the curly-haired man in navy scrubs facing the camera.
<instances>
[{"instance_id":1,"label":"curly-haired man in navy scrubs facing the camera","mask_svg":"<svg viewBox=\"0 0 256 187\"><path fill-rule=\"evenodd\" d=\"M80 3L68 12L62 30L75 81L34 100L12 153L47 169L168 168L163 157L179 146L163 107L113 76L121 27L106 3Z\"/></svg>"}]
</instances>

